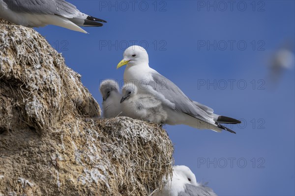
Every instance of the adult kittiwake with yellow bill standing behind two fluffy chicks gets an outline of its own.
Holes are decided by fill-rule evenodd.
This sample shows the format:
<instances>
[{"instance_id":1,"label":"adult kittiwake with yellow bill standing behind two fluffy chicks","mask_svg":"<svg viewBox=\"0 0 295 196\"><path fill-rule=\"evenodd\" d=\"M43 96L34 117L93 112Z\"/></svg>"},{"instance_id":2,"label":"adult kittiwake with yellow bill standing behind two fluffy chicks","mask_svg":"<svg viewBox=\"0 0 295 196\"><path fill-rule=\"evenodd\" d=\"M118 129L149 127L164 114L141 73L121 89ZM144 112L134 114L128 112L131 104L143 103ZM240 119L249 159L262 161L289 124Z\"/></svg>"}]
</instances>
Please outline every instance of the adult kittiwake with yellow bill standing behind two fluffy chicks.
<instances>
[{"instance_id":1,"label":"adult kittiwake with yellow bill standing behind two fluffy chicks","mask_svg":"<svg viewBox=\"0 0 295 196\"><path fill-rule=\"evenodd\" d=\"M216 115L213 109L189 99L172 81L149 67L148 53L144 48L131 46L124 51L123 57L117 69L127 65L124 81L135 84L139 94L150 94L162 102L168 115L165 123L235 133L220 123L236 124L240 121Z\"/></svg>"}]
</instances>

